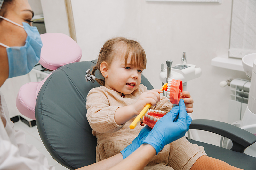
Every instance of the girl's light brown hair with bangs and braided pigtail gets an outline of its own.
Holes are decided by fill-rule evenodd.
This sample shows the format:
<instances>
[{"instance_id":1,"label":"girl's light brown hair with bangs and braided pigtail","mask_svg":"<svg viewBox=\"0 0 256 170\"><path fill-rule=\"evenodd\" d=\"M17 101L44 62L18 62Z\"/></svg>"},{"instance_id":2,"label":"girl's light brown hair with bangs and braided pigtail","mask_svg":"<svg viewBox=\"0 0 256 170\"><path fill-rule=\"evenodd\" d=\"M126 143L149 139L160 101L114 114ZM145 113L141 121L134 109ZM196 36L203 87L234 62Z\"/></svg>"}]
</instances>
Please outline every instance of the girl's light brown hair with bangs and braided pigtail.
<instances>
[{"instance_id":1,"label":"girl's light brown hair with bangs and braided pigtail","mask_svg":"<svg viewBox=\"0 0 256 170\"><path fill-rule=\"evenodd\" d=\"M102 46L102 48L100 49L97 64L93 67L91 74L94 75L97 69L100 70L100 64L104 61L108 63L109 67L112 61L115 59L114 56L119 56L118 54L122 53L125 55L125 65L127 65L127 59L129 55L131 55L130 64L141 69L146 69L146 54L140 43L124 37L116 37L106 41L105 44ZM98 78L96 78L95 80L100 85L105 85L105 80Z\"/></svg>"}]
</instances>

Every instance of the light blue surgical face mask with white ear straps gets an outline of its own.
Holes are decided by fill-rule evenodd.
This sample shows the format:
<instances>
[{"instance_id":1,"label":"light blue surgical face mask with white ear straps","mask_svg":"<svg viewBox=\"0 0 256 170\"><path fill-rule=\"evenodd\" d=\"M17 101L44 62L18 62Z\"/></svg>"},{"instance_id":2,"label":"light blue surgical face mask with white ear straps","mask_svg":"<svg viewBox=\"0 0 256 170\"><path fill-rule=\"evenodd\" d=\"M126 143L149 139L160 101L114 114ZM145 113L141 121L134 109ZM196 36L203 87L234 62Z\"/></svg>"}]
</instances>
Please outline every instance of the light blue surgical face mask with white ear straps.
<instances>
[{"instance_id":1,"label":"light blue surgical face mask with white ear straps","mask_svg":"<svg viewBox=\"0 0 256 170\"><path fill-rule=\"evenodd\" d=\"M7 18L0 18L9 21L17 26L24 28L27 33L26 43L21 47L6 47L9 62L9 77L21 76L29 73L36 63L40 60L41 48L43 46L40 34L36 27L30 26L28 23L22 22L23 26L17 24Z\"/></svg>"}]
</instances>

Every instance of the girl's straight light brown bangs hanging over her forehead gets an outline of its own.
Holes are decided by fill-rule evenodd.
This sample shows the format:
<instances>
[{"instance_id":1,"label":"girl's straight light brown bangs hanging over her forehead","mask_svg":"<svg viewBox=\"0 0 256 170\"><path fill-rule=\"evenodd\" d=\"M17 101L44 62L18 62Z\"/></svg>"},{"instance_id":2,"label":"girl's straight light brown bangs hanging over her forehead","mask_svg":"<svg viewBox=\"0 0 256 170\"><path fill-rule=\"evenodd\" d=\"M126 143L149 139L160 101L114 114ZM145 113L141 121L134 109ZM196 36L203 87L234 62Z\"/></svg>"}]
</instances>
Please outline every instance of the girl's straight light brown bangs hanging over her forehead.
<instances>
[{"instance_id":1,"label":"girl's straight light brown bangs hanging over her forehead","mask_svg":"<svg viewBox=\"0 0 256 170\"><path fill-rule=\"evenodd\" d=\"M127 50L125 54L125 65L127 65L127 60L129 55L131 55L130 64L141 69L146 69L146 66L147 66L146 53L144 49L141 47L141 45L134 40L127 40L126 44L127 44Z\"/></svg>"}]
</instances>

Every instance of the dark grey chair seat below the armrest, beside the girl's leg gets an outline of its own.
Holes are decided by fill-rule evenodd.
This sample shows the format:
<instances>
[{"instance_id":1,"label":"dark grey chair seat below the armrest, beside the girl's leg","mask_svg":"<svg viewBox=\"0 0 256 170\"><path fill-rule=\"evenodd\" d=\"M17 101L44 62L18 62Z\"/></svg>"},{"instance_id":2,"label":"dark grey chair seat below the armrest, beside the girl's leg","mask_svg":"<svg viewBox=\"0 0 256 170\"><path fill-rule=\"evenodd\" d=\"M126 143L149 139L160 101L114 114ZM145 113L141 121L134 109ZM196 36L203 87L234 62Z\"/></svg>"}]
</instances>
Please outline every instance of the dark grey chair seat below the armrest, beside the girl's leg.
<instances>
[{"instance_id":1,"label":"dark grey chair seat below the armrest, beside the girl's leg","mask_svg":"<svg viewBox=\"0 0 256 170\"><path fill-rule=\"evenodd\" d=\"M245 170L255 170L256 169L256 158L246 155L244 153L239 153L231 151L229 149L221 148L219 146L214 146L212 144L207 144L204 142L199 142L195 140L188 139L192 144L197 144L198 146L203 146L207 156L220 159L229 165L235 166L237 168Z\"/></svg>"}]
</instances>

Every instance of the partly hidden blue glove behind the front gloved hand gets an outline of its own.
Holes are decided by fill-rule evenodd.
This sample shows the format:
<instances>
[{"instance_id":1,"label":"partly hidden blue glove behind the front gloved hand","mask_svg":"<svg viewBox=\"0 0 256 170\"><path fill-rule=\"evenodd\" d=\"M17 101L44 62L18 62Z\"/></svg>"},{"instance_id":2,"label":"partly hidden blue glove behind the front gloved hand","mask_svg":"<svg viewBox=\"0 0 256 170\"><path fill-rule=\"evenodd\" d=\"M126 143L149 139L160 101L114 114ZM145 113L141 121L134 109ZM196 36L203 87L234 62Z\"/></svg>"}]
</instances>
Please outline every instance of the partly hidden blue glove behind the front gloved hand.
<instances>
[{"instance_id":1,"label":"partly hidden blue glove behind the front gloved hand","mask_svg":"<svg viewBox=\"0 0 256 170\"><path fill-rule=\"evenodd\" d=\"M132 143L124 148L124 150L120 151L124 159L140 147L142 144L141 141L148 135L151 130L152 128L145 126L143 129L141 129L139 135L132 141Z\"/></svg>"}]
</instances>

